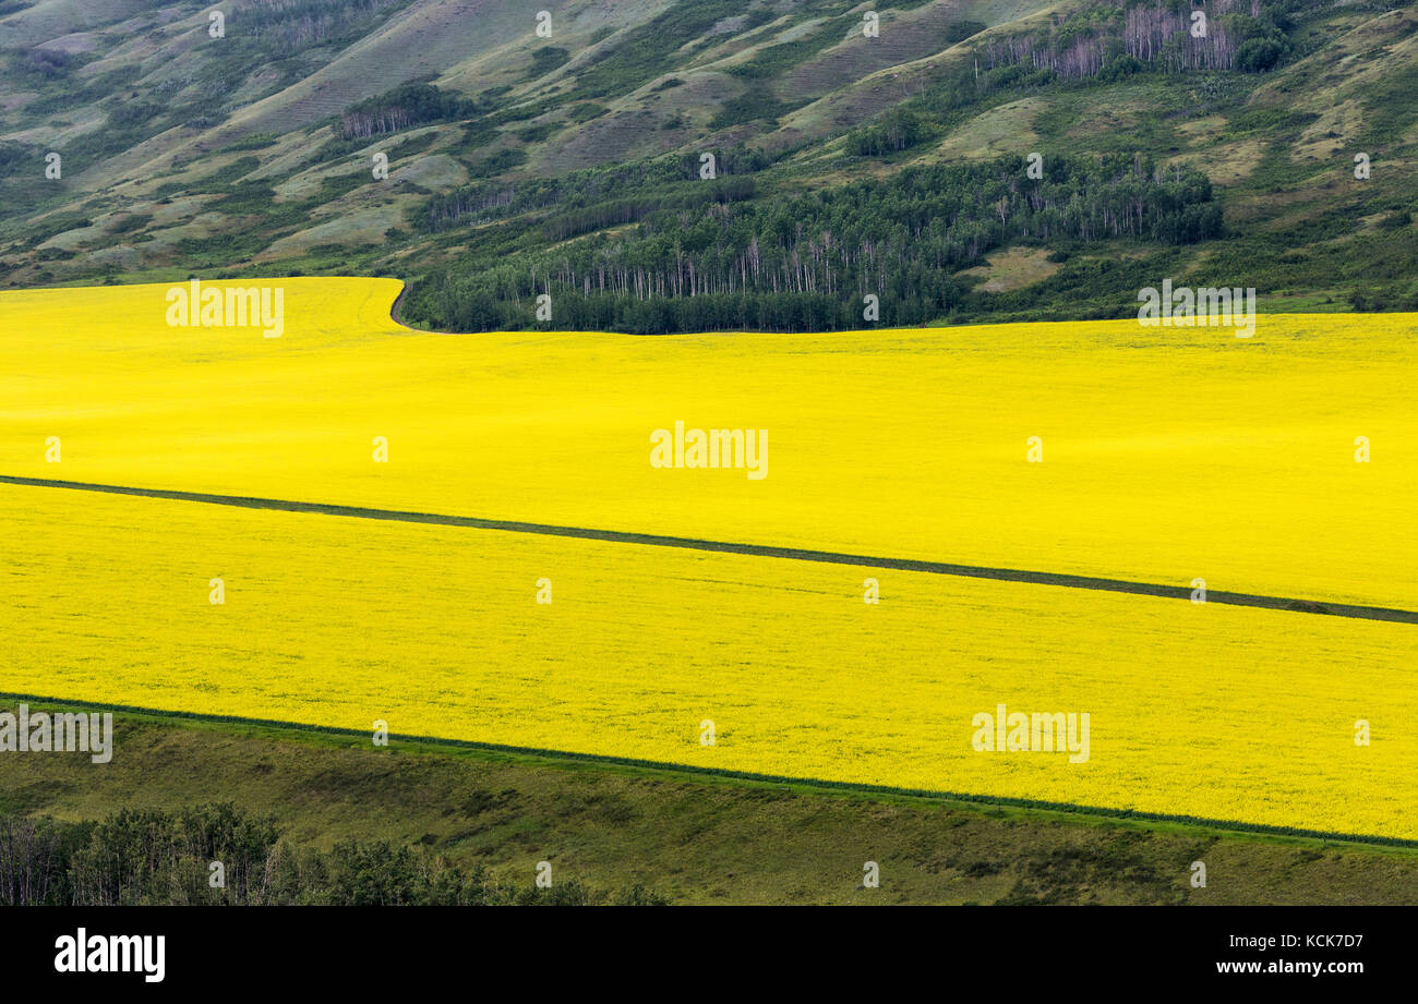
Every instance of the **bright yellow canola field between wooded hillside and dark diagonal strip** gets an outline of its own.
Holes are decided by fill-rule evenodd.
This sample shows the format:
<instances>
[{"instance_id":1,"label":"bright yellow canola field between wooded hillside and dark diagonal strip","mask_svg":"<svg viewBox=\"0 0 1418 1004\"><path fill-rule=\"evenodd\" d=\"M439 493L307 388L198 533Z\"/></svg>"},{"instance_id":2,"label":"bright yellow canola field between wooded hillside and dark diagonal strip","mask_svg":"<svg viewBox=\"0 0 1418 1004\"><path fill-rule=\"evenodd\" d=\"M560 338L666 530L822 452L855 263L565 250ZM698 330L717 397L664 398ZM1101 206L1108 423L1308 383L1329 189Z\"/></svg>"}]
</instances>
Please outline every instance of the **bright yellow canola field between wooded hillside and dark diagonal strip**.
<instances>
[{"instance_id":1,"label":"bright yellow canola field between wooded hillside and dark diagonal strip","mask_svg":"<svg viewBox=\"0 0 1418 1004\"><path fill-rule=\"evenodd\" d=\"M272 282L274 339L0 294L0 474L1418 608L1415 315L441 336L393 279ZM767 476L652 468L676 420L767 430Z\"/></svg>"}]
</instances>

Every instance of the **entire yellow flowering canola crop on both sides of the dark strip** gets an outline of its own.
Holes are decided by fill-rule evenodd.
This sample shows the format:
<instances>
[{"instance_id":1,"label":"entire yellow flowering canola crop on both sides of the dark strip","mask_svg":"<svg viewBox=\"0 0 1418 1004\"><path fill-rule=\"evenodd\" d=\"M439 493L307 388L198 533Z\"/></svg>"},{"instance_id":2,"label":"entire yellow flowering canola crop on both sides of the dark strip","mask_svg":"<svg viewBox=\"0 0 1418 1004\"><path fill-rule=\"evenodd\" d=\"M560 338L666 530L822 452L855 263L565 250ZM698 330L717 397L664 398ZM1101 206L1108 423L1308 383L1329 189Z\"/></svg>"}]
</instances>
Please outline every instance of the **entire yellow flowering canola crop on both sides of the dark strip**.
<instances>
[{"instance_id":1,"label":"entire yellow flowering canola crop on both sides of the dark strip","mask_svg":"<svg viewBox=\"0 0 1418 1004\"><path fill-rule=\"evenodd\" d=\"M1418 608L1412 315L442 336L272 282L271 339L0 294L0 474ZM767 475L652 467L676 421ZM1411 624L7 485L0 554L11 693L1418 838ZM1000 705L1088 759L974 749Z\"/></svg>"}]
</instances>

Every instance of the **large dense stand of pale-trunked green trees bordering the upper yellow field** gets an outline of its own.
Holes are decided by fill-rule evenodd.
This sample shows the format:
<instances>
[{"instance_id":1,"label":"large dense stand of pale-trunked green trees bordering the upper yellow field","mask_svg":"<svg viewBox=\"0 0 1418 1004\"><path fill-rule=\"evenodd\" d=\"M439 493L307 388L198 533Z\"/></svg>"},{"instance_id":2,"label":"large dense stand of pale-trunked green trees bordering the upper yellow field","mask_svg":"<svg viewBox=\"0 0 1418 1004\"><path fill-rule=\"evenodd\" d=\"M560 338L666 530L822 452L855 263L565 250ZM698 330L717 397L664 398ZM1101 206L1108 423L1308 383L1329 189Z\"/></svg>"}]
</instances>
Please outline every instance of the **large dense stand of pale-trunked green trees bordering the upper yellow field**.
<instances>
[{"instance_id":1,"label":"large dense stand of pale-trunked green trees bordering the upper yellow field","mask_svg":"<svg viewBox=\"0 0 1418 1004\"><path fill-rule=\"evenodd\" d=\"M1200 172L1159 172L1143 156L1051 157L1031 179L1011 156L659 208L630 233L434 272L411 291L408 313L454 330L818 330L861 326L875 295L895 323L910 323L947 313L967 288L954 274L1018 240L1183 244L1219 233ZM542 301L539 319L545 295L552 315Z\"/></svg>"}]
</instances>

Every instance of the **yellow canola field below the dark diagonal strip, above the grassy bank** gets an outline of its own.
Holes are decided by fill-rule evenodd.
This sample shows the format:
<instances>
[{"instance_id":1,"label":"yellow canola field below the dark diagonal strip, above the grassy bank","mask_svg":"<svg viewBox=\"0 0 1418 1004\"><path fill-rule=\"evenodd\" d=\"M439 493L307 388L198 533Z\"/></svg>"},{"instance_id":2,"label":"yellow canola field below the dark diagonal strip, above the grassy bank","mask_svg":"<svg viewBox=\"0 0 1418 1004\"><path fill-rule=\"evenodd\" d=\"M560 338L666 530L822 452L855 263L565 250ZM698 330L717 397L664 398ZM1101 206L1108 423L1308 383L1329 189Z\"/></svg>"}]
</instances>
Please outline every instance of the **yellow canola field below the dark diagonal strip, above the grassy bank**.
<instances>
[{"instance_id":1,"label":"yellow canola field below the dark diagonal strip, above the grassy bank","mask_svg":"<svg viewBox=\"0 0 1418 1004\"><path fill-rule=\"evenodd\" d=\"M1418 838L1407 624L50 488L0 553L9 693Z\"/></svg>"}]
</instances>

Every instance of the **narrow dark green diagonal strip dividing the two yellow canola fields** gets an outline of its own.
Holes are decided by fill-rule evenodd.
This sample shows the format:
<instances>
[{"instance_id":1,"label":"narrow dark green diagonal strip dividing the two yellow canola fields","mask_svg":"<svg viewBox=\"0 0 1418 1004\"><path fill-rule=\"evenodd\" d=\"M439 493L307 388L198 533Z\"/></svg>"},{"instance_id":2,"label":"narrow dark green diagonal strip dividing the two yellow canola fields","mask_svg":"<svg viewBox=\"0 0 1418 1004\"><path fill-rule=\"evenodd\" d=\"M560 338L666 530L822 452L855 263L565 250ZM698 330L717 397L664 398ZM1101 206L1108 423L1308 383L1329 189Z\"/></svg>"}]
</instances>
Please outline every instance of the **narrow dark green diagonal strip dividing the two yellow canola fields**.
<instances>
[{"instance_id":1,"label":"narrow dark green diagonal strip dividing the two yellow canola fields","mask_svg":"<svg viewBox=\"0 0 1418 1004\"><path fill-rule=\"evenodd\" d=\"M503 519L479 519L476 516L447 516L428 512L406 512L400 509L369 509L363 506L330 505L325 502L295 502L289 499L247 498L242 495L208 495L203 492L177 492L162 488L129 488L123 485L94 485L81 481L54 481L50 478L17 478L0 474L0 485L24 488L67 488L84 492L105 492L109 495L135 495L139 498L167 499L172 502L200 502L204 505L225 505L241 509L272 509L277 512L302 512L325 516L346 516L352 519L383 519L400 523L428 523L434 526L464 526L478 530L502 530L505 533L540 533L581 540L604 540L608 543L631 543L651 547L682 547L726 554L747 554L753 557L777 557L790 562L821 562L825 564L849 564L862 569L891 569L896 571L922 571L936 576L959 576L963 579L994 579L998 581L1029 583L1034 586L1059 586L1065 589L1093 589L1107 593L1133 593L1157 596L1170 600L1190 600L1190 586L1160 586L1136 583L1124 579L1099 579L1093 576L1071 576L1055 571L1027 571L1020 569L991 569L978 564L951 564L949 562L923 562L905 557L869 557L865 554L842 554L830 550L808 550L801 547L774 547L771 545L733 543L726 540L696 540L693 537L671 537L657 533L631 533L627 530L597 530L579 526L553 526L547 523L525 523ZM1340 603L1314 603L1276 596L1251 593L1225 593L1207 590L1207 603L1221 603L1234 607L1261 607L1265 610L1288 610L1303 614L1330 614L1356 617L1371 621L1397 621L1418 624L1418 611L1391 610L1387 607L1363 607Z\"/></svg>"}]
</instances>

